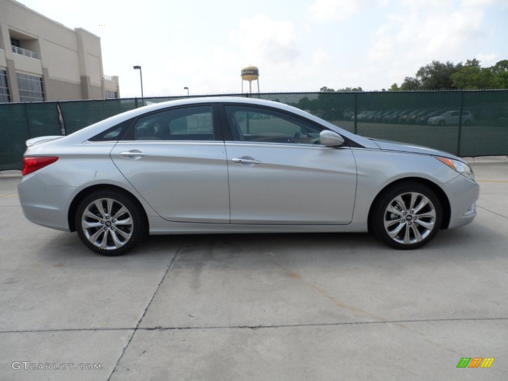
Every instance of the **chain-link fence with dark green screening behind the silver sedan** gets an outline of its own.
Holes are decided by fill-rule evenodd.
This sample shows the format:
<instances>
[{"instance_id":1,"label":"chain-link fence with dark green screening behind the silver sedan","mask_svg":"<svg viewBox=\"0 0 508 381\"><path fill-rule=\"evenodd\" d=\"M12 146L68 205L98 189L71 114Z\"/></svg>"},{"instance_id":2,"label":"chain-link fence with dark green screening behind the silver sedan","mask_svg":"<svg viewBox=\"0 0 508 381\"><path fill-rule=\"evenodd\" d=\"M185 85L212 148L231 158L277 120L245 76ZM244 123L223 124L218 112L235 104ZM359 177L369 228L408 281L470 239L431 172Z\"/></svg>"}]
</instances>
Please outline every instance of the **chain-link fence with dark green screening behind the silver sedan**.
<instances>
[{"instance_id":1,"label":"chain-link fence with dark green screening behind the silver sedan","mask_svg":"<svg viewBox=\"0 0 508 381\"><path fill-rule=\"evenodd\" d=\"M277 101L359 135L459 156L508 154L508 90L232 94ZM68 135L148 103L186 97L0 104L0 170L21 169L25 141Z\"/></svg>"}]
</instances>

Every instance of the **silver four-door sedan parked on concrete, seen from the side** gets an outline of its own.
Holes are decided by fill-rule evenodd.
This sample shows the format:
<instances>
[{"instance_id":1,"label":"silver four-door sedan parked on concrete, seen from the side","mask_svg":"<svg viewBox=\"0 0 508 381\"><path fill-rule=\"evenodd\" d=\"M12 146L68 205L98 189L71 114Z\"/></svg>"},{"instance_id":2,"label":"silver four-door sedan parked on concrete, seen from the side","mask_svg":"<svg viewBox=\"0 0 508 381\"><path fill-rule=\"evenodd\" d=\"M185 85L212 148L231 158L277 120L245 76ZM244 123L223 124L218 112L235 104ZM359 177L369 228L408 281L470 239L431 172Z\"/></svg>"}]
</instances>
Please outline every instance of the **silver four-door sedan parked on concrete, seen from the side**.
<instances>
[{"instance_id":1,"label":"silver four-door sedan parked on concrete, seen from the side","mask_svg":"<svg viewBox=\"0 0 508 381\"><path fill-rule=\"evenodd\" d=\"M459 157L262 100L165 102L26 145L26 218L103 255L182 233L371 231L412 249L470 223L479 196Z\"/></svg>"}]
</instances>

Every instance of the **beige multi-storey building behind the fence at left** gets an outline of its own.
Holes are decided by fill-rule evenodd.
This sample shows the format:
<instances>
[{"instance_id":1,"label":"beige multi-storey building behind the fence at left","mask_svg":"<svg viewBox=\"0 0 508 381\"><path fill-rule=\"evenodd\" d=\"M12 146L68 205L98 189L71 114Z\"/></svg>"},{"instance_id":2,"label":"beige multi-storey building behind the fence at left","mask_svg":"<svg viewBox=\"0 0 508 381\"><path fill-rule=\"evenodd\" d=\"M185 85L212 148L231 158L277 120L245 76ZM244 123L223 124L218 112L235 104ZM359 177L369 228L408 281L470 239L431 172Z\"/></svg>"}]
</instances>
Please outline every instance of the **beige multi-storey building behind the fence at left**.
<instances>
[{"instance_id":1,"label":"beige multi-storey building behind the fence at left","mask_svg":"<svg viewBox=\"0 0 508 381\"><path fill-rule=\"evenodd\" d=\"M0 103L119 98L101 39L14 0L0 0Z\"/></svg>"}]
</instances>

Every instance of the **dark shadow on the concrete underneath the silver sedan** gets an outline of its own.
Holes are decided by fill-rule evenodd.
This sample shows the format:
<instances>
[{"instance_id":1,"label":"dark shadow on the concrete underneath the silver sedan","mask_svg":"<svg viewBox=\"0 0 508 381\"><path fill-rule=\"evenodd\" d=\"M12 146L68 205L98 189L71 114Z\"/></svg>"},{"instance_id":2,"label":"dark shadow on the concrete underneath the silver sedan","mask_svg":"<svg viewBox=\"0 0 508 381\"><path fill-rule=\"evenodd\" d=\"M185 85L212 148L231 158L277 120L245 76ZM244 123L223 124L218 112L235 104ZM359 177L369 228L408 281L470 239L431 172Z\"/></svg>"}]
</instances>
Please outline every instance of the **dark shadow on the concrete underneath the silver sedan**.
<instances>
[{"instance_id":1,"label":"dark shadow on the concrete underneath the silver sedan","mask_svg":"<svg viewBox=\"0 0 508 381\"><path fill-rule=\"evenodd\" d=\"M84 247L76 233L52 232L58 236L39 246L40 253L51 260L90 258L100 255ZM496 251L504 247L506 237L499 231L482 224L481 221L452 230L440 231L435 240L416 250L392 249L368 233L273 233L273 234L186 234L148 236L131 252L118 258L139 256L179 255L211 253L215 256L238 256L250 252L291 253L333 252L335 255L361 255L376 252L377 255L391 253L391 256L408 256L409 253L424 255L429 251L478 252ZM411 254L412 255L412 254ZM115 258L115 257L112 257Z\"/></svg>"}]
</instances>

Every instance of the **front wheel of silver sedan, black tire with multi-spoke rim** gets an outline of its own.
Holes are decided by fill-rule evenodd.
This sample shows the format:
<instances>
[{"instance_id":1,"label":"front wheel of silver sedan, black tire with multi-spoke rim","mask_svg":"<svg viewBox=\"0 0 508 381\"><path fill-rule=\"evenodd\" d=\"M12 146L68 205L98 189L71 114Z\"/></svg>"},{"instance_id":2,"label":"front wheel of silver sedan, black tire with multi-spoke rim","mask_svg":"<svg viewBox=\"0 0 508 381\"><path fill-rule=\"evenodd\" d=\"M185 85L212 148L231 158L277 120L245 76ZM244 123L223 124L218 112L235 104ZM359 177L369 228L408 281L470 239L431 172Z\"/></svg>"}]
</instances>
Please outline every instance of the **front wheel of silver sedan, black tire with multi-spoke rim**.
<instances>
[{"instance_id":1,"label":"front wheel of silver sedan, black tire with multi-spoke rim","mask_svg":"<svg viewBox=\"0 0 508 381\"><path fill-rule=\"evenodd\" d=\"M423 206L419 208L420 205ZM392 208L388 210L390 206ZM379 195L371 210L370 226L387 245L410 250L426 245L435 237L441 227L442 214L441 202L432 189L407 181Z\"/></svg>"}]
</instances>

